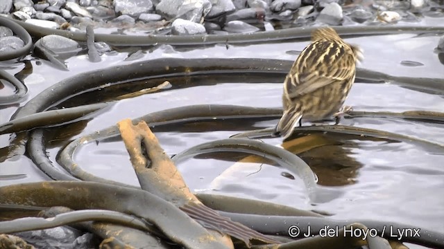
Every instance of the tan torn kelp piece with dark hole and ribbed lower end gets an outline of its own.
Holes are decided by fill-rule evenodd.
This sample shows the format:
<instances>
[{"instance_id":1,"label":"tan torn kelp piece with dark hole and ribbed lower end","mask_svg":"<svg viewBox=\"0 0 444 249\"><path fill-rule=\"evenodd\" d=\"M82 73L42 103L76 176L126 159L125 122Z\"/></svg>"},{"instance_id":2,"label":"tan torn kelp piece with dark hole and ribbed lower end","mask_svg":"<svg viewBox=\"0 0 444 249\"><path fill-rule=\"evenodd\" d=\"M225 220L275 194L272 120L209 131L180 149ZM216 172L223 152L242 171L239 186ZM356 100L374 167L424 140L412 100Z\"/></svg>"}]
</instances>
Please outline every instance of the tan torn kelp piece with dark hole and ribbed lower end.
<instances>
[{"instance_id":1,"label":"tan torn kelp piece with dark hole and ribbed lower end","mask_svg":"<svg viewBox=\"0 0 444 249\"><path fill-rule=\"evenodd\" d=\"M191 193L173 160L160 147L159 141L146 122L133 125L133 122L127 119L119 122L118 126L142 190L156 194L179 208L184 208L183 211L201 221L206 228L230 234L244 241L247 246L250 246L250 239L278 243L241 223L230 221L203 205Z\"/></svg>"}]
</instances>

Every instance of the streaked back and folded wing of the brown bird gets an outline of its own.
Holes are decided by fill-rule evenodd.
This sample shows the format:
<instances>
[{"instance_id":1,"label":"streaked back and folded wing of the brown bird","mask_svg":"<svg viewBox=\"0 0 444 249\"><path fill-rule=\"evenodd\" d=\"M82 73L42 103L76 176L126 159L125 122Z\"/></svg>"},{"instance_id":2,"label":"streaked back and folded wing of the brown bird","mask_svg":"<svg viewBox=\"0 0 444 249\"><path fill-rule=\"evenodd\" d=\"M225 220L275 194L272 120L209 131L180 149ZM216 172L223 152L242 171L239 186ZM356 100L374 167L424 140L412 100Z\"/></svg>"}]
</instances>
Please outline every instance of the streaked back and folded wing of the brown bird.
<instances>
[{"instance_id":1,"label":"streaked back and folded wing of the brown bird","mask_svg":"<svg viewBox=\"0 0 444 249\"><path fill-rule=\"evenodd\" d=\"M295 70L285 79L284 89L290 99L312 93L333 82L349 80L355 73L355 58L345 53L345 44L321 41L311 45L306 53L300 54L293 66ZM324 48L316 49L319 46Z\"/></svg>"}]
</instances>

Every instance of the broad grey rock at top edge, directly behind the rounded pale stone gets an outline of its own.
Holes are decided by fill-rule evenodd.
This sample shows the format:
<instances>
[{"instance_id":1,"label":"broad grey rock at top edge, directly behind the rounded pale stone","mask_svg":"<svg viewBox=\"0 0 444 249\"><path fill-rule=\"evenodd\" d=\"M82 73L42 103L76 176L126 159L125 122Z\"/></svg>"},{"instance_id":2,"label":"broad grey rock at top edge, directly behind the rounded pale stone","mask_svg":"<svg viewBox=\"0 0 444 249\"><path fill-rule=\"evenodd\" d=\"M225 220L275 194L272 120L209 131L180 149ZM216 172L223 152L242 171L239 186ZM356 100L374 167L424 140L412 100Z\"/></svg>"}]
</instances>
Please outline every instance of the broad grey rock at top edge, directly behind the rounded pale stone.
<instances>
[{"instance_id":1,"label":"broad grey rock at top edge, directly behind the rounded pale stone","mask_svg":"<svg viewBox=\"0 0 444 249\"><path fill-rule=\"evenodd\" d=\"M173 19L180 17L189 21L200 21L211 8L208 0L162 0L156 6L156 12L162 17Z\"/></svg>"}]
</instances>

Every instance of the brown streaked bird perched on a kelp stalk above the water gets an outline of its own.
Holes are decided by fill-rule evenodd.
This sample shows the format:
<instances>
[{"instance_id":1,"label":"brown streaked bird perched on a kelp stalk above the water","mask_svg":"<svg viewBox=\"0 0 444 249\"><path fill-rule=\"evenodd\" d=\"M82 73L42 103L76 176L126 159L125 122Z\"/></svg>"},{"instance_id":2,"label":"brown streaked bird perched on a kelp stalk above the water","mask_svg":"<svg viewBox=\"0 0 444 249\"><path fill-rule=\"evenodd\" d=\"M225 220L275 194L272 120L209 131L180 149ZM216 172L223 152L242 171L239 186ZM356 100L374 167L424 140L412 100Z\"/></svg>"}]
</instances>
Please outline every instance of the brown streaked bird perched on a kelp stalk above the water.
<instances>
[{"instance_id":1,"label":"brown streaked bird perched on a kelp stalk above the water","mask_svg":"<svg viewBox=\"0 0 444 249\"><path fill-rule=\"evenodd\" d=\"M298 122L301 125L301 118L319 121L343 113L342 104L355 82L356 63L363 58L362 50L345 43L333 28L311 33L311 44L302 50L285 77L284 113L275 135L288 138L293 127Z\"/></svg>"}]
</instances>

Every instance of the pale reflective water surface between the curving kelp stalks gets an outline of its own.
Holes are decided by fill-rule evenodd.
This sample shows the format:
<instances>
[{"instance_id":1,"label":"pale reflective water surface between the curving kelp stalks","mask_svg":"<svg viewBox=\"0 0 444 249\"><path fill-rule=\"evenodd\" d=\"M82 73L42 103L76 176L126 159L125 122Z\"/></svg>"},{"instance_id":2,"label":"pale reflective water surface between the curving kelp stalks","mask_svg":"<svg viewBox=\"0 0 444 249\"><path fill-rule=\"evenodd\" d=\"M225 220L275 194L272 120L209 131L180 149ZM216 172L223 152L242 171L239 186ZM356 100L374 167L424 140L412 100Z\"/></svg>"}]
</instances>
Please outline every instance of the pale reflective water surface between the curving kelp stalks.
<instances>
[{"instance_id":1,"label":"pale reflective water surface between the curving kelp stalks","mask_svg":"<svg viewBox=\"0 0 444 249\"><path fill-rule=\"evenodd\" d=\"M423 24L436 25L437 20L426 18ZM363 68L407 77L443 77L443 64L434 53L438 36L417 36L411 34L357 37L347 42L364 48ZM257 44L250 46L229 46L225 44L191 50L178 48L176 53L165 52L161 47L153 53L145 53L142 59L158 57L256 57L294 60L296 55L289 50L300 51L307 42L282 42L279 44ZM29 88L28 99L56 82L90 71L123 62L126 53L103 56L98 64L91 63L85 55L67 60L69 72L59 71L47 62L33 59L33 73L25 80ZM409 60L424 66L402 66ZM39 63L37 63L39 62ZM3 62L3 64L5 64ZM39 65L40 64L40 65ZM17 73L22 64L8 69ZM217 77L217 76L214 76ZM283 80L283 79L282 79ZM171 82L174 84L174 82ZM282 84L247 84L231 82L213 86L194 86L142 95L114 104L87 123L81 134L103 129L123 118L137 118L147 112L161 111L191 104L239 104L250 107L280 107ZM404 89L393 84L364 84L357 82L345 102L355 111L442 111L444 100L441 95L432 95ZM20 104L21 106L23 105ZM7 122L17 105L0 110L0 122ZM273 127L277 120L256 122L257 129ZM343 119L341 124L367 127L414 136L444 144L444 124L413 122L411 120L382 118ZM217 139L228 138L242 131L253 129L251 124L225 121L215 125L212 122L182 124L175 131L154 128L168 154L177 154L193 145ZM74 138L79 135L74 135ZM340 190L343 195L316 206L307 203L303 184L281 176L285 170L269 165L250 164L248 169L223 174L217 184L212 180L228 169L233 162L215 159L191 159L178 165L189 187L194 191L213 192L250 199L260 199L296 208L322 210L333 214L334 219L376 219L397 221L444 232L444 169L440 163L443 153L432 153L427 149L405 142L361 139L358 136L318 135L323 139L336 141L301 154L314 168L319 183ZM68 137L69 138L69 137ZM350 138L352 138L350 140ZM67 138L65 138L67 139ZM71 139L71 138L69 138ZM9 135L0 136L0 147L8 145ZM266 142L280 145L281 140L267 139ZM338 142L340 141L339 145ZM49 149L49 156L55 162L59 147ZM137 185L137 178L130 166L129 156L123 142L101 142L84 146L75 156L76 161L88 172L115 181ZM26 174L24 178L10 178L0 185L46 180L46 176L35 168L31 160L19 156L0 164L0 176L4 174ZM218 187L218 190L210 189ZM417 247L418 248L418 247Z\"/></svg>"}]
</instances>

